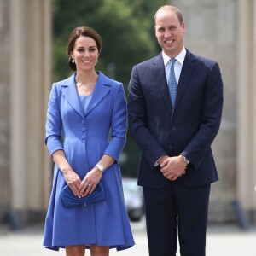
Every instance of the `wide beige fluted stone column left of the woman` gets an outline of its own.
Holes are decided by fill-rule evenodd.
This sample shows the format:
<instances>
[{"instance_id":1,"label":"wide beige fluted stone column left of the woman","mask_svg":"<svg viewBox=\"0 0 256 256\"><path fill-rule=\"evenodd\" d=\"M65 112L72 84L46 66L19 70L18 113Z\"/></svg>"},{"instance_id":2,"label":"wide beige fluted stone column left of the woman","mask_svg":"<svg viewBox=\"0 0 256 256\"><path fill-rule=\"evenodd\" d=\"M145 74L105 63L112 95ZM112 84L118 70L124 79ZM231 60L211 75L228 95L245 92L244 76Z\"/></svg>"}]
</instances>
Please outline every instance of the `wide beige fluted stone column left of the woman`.
<instances>
[{"instance_id":1,"label":"wide beige fluted stone column left of the woman","mask_svg":"<svg viewBox=\"0 0 256 256\"><path fill-rule=\"evenodd\" d=\"M44 147L51 83L51 1L11 0L11 209L21 223L45 210L51 186Z\"/></svg>"}]
</instances>

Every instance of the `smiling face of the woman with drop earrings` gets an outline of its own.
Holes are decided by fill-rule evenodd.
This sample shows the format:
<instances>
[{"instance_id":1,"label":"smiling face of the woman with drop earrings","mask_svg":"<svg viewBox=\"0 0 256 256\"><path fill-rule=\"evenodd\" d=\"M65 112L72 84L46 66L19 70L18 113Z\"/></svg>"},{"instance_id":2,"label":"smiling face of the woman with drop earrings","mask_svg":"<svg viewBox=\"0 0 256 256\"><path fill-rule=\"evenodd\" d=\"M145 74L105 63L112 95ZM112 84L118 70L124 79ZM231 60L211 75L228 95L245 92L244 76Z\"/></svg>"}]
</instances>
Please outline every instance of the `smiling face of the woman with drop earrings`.
<instances>
[{"instance_id":1,"label":"smiling face of the woman with drop earrings","mask_svg":"<svg viewBox=\"0 0 256 256\"><path fill-rule=\"evenodd\" d=\"M89 37L79 37L70 55L76 63L78 72L95 70L99 56L96 41Z\"/></svg>"}]
</instances>

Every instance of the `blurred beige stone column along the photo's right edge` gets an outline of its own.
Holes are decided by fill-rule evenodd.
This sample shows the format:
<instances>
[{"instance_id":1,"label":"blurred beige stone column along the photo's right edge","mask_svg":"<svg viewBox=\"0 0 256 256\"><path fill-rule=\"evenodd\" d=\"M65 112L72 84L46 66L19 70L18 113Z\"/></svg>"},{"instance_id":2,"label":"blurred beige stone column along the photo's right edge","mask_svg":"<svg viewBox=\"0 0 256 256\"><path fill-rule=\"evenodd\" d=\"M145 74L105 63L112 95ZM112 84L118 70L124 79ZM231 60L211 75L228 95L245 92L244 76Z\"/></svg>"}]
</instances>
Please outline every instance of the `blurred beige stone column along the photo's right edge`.
<instances>
[{"instance_id":1,"label":"blurred beige stone column along the photo's right edge","mask_svg":"<svg viewBox=\"0 0 256 256\"><path fill-rule=\"evenodd\" d=\"M238 1L237 197L256 217L256 26L255 0Z\"/></svg>"}]
</instances>

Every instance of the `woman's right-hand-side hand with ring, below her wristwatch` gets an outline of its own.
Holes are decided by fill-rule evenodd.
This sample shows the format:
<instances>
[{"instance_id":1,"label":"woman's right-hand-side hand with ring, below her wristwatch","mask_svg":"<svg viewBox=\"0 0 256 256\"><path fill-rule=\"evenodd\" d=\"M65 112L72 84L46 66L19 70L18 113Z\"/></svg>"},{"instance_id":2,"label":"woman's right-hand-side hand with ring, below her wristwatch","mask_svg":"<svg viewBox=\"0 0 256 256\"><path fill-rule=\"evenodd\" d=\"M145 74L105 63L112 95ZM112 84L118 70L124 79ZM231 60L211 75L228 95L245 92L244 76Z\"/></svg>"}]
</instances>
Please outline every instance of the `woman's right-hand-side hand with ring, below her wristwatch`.
<instances>
[{"instance_id":1,"label":"woman's right-hand-side hand with ring, below her wristwatch","mask_svg":"<svg viewBox=\"0 0 256 256\"><path fill-rule=\"evenodd\" d=\"M100 182L102 178L102 172L98 170L97 167L94 167L90 172L86 174L82 183L79 186L79 193L82 197L91 194L96 185Z\"/></svg>"}]
</instances>

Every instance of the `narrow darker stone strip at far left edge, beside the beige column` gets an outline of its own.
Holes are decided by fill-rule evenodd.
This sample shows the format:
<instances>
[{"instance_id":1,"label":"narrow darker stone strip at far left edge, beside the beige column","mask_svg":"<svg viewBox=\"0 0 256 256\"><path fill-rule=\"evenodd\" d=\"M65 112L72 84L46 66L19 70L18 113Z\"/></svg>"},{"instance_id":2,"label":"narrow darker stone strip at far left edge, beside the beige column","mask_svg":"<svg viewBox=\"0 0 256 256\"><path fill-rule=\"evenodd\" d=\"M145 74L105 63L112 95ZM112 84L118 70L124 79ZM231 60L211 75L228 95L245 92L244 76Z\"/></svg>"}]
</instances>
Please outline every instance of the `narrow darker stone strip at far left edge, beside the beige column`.
<instances>
[{"instance_id":1,"label":"narrow darker stone strip at far left edge, beside the beige column","mask_svg":"<svg viewBox=\"0 0 256 256\"><path fill-rule=\"evenodd\" d=\"M0 221L8 212L9 188L9 1L0 1Z\"/></svg>"}]
</instances>

